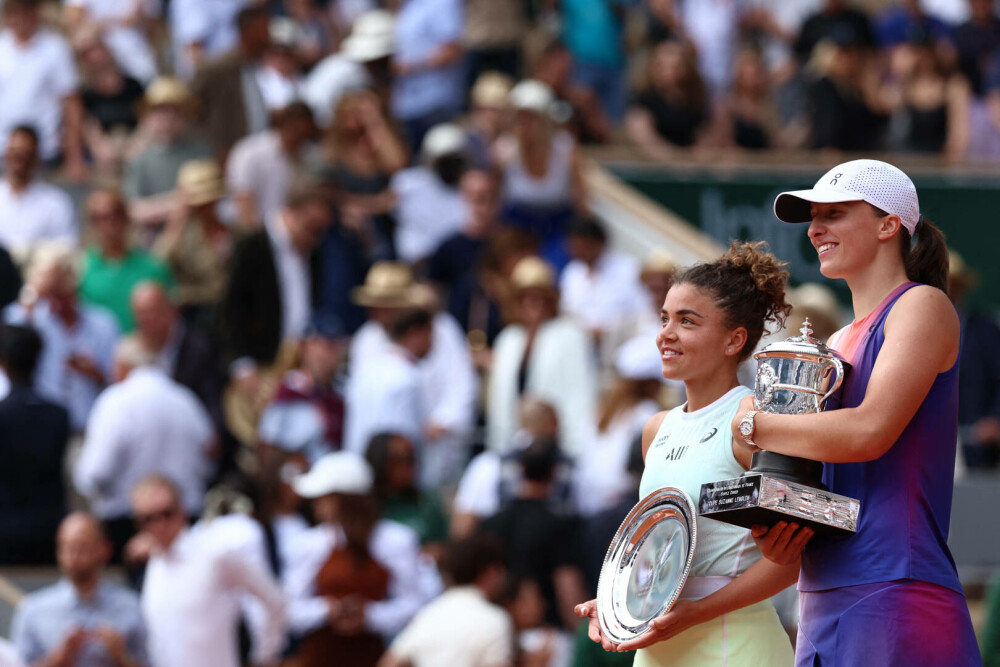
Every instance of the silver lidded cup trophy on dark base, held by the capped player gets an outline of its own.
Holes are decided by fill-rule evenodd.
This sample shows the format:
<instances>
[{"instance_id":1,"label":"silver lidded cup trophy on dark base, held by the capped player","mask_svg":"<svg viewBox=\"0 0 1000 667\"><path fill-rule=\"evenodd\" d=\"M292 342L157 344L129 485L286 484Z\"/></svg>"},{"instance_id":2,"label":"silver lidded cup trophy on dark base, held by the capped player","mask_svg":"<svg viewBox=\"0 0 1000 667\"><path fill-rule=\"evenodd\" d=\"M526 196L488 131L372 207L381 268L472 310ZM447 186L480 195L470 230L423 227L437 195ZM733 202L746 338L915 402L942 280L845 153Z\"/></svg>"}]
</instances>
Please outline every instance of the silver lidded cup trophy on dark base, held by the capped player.
<instances>
[{"instance_id":1,"label":"silver lidded cup trophy on dark base, held by the capped player","mask_svg":"<svg viewBox=\"0 0 1000 667\"><path fill-rule=\"evenodd\" d=\"M754 355L754 407L772 414L822 412L844 381L850 364L816 340L807 319L801 336L772 343ZM750 470L737 479L702 484L700 516L744 526L779 521L808 526L817 534L857 532L861 503L823 485L823 464L758 450Z\"/></svg>"}]
</instances>

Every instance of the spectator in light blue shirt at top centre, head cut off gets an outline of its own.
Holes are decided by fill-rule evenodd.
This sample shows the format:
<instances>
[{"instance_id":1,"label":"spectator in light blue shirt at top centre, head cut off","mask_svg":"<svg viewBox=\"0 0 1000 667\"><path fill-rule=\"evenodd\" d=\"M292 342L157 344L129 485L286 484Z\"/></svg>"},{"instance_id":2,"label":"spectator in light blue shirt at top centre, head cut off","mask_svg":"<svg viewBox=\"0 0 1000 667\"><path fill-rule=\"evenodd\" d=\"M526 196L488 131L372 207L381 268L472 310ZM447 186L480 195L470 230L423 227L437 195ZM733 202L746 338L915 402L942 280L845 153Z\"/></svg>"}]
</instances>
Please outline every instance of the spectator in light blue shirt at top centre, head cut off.
<instances>
[{"instance_id":1,"label":"spectator in light blue shirt at top centre, head cut off","mask_svg":"<svg viewBox=\"0 0 1000 667\"><path fill-rule=\"evenodd\" d=\"M458 0L403 0L396 14L392 114L414 153L465 105L463 13Z\"/></svg>"}]
</instances>

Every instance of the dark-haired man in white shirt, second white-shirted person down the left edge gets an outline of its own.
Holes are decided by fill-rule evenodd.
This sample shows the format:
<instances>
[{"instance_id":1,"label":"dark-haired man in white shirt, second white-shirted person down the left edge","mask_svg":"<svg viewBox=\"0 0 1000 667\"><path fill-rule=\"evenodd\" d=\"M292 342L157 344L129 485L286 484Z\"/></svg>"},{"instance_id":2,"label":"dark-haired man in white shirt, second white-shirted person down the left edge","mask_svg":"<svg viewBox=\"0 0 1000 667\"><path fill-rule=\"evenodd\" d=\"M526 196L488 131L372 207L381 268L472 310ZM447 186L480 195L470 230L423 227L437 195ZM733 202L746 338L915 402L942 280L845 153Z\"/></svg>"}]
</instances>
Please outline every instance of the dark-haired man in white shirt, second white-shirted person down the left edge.
<instances>
[{"instance_id":1,"label":"dark-haired man in white shirt, second white-shirted person down the left edge","mask_svg":"<svg viewBox=\"0 0 1000 667\"><path fill-rule=\"evenodd\" d=\"M27 125L11 130L0 182L0 246L15 255L43 240L75 245L79 237L73 201L38 178L38 134Z\"/></svg>"}]
</instances>

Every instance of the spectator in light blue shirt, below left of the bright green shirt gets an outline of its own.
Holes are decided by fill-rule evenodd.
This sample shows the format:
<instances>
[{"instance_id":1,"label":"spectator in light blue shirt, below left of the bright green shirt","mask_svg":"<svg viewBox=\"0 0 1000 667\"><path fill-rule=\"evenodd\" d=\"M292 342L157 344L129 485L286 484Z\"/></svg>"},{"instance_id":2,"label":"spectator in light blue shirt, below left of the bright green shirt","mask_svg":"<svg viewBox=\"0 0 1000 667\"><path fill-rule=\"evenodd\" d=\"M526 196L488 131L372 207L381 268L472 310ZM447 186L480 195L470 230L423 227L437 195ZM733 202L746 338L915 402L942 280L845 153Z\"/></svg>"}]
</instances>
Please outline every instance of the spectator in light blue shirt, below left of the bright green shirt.
<instances>
[{"instance_id":1,"label":"spectator in light blue shirt, below left of the bright green shirt","mask_svg":"<svg viewBox=\"0 0 1000 667\"><path fill-rule=\"evenodd\" d=\"M4 311L12 324L33 327L44 345L35 375L39 395L69 411L82 433L98 394L112 381L118 324L99 306L77 297L76 253L59 244L39 247L28 266L26 293Z\"/></svg>"}]
</instances>

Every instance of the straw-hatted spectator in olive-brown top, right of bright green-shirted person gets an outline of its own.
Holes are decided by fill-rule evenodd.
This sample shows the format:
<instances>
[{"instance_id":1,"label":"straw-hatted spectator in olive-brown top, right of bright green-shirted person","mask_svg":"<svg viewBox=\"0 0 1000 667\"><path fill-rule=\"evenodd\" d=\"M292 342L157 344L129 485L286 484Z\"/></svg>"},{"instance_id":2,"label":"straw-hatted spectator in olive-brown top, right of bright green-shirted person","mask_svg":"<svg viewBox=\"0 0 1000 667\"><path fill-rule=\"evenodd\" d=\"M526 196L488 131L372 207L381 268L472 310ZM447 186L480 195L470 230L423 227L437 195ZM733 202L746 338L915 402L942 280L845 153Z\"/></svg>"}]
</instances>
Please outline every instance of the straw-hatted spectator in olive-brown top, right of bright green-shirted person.
<instances>
[{"instance_id":1,"label":"straw-hatted spectator in olive-brown top, right of bright green-shirted person","mask_svg":"<svg viewBox=\"0 0 1000 667\"><path fill-rule=\"evenodd\" d=\"M219 215L225 196L215 160L185 162L177 173L173 209L153 244L153 252L177 278L176 302L185 317L205 327L211 326L222 300L233 252L233 232Z\"/></svg>"}]
</instances>

